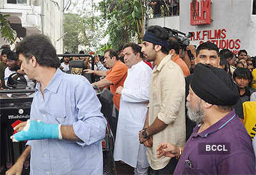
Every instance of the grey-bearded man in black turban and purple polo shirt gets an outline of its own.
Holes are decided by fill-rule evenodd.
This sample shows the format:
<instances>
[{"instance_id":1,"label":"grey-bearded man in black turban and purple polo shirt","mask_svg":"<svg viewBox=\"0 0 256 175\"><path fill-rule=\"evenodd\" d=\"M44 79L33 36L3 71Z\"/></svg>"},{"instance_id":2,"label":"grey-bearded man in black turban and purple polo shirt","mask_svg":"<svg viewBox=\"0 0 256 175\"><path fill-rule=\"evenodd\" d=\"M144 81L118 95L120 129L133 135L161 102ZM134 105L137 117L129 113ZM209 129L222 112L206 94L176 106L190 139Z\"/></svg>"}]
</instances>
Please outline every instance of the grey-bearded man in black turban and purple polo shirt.
<instances>
[{"instance_id":1,"label":"grey-bearded man in black turban and purple polo shirt","mask_svg":"<svg viewBox=\"0 0 256 175\"><path fill-rule=\"evenodd\" d=\"M186 107L196 127L184 148L157 148L159 158L179 158L174 174L255 174L252 140L232 109L239 99L235 86L224 70L195 66Z\"/></svg>"}]
</instances>

